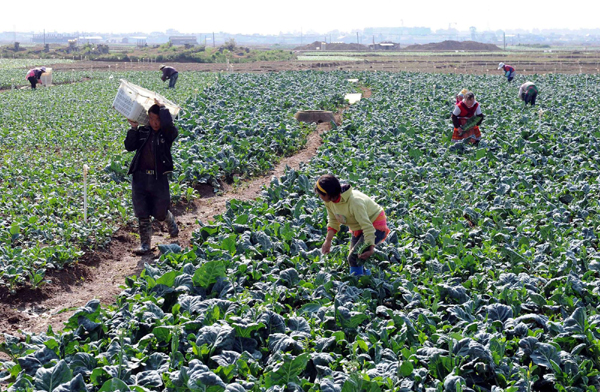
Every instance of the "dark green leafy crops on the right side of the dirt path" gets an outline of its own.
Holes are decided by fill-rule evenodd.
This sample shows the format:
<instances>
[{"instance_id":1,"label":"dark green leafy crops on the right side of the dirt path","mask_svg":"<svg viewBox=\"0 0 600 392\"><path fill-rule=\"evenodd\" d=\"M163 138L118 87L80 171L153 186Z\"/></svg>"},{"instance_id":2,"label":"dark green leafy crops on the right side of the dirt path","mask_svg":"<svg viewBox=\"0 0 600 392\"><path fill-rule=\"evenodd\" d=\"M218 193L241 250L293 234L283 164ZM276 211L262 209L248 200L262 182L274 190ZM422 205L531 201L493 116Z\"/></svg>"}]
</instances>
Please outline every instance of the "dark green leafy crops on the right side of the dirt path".
<instances>
[{"instance_id":1,"label":"dark green leafy crops on the right side of the dirt path","mask_svg":"<svg viewBox=\"0 0 600 392\"><path fill-rule=\"evenodd\" d=\"M309 165L231 201L191 249L162 248L115 306L7 336L10 390L598 390L594 87L536 77L539 115L501 78L331 75L374 96ZM450 144L463 87L486 114L478 147ZM320 255L327 172L386 210L370 277L348 276L343 230Z\"/></svg>"}]
</instances>

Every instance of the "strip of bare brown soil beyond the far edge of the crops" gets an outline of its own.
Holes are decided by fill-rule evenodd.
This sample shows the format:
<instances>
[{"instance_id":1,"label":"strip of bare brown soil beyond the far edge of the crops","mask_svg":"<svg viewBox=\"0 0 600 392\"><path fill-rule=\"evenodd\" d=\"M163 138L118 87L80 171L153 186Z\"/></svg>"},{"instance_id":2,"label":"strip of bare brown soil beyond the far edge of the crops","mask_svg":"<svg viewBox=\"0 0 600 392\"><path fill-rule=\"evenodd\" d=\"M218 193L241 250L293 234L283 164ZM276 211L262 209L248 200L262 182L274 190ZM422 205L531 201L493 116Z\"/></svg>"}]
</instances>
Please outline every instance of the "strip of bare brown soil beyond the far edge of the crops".
<instances>
[{"instance_id":1,"label":"strip of bare brown soil beyond the far edge of the crops","mask_svg":"<svg viewBox=\"0 0 600 392\"><path fill-rule=\"evenodd\" d=\"M547 73L600 73L600 52L502 52L494 53L441 53L424 55L389 55L382 53L366 54L359 61L261 61L252 63L232 63L233 72L266 73L280 71L386 71L386 72L429 72L487 74L502 76L498 63L514 66L519 75ZM228 72L225 63L169 63L181 72ZM55 70L104 70L104 71L156 71L159 63L153 62L103 62L78 61L71 64L54 64Z\"/></svg>"}]
</instances>

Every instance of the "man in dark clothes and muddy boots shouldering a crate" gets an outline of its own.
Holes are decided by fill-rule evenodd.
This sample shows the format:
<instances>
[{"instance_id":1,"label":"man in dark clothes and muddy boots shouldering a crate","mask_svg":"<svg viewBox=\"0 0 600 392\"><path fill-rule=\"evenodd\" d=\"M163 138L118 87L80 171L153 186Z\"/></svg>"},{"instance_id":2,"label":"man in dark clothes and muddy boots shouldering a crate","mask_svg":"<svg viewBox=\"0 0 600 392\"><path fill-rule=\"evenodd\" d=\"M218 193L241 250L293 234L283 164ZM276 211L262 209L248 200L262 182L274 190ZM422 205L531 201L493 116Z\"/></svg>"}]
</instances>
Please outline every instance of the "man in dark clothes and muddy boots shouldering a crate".
<instances>
[{"instance_id":1,"label":"man in dark clothes and muddy boots shouldering a crate","mask_svg":"<svg viewBox=\"0 0 600 392\"><path fill-rule=\"evenodd\" d=\"M159 221L166 220L171 237L179 234L175 218L169 211L171 195L167 177L173 171L171 146L179 132L165 105L157 99L154 99L154 103L148 109L149 125L139 127L137 122L129 120L131 129L125 139L127 151L135 151L128 174L133 175L133 211L140 225L141 246L135 251L138 255L146 254L151 249L150 216Z\"/></svg>"}]
</instances>

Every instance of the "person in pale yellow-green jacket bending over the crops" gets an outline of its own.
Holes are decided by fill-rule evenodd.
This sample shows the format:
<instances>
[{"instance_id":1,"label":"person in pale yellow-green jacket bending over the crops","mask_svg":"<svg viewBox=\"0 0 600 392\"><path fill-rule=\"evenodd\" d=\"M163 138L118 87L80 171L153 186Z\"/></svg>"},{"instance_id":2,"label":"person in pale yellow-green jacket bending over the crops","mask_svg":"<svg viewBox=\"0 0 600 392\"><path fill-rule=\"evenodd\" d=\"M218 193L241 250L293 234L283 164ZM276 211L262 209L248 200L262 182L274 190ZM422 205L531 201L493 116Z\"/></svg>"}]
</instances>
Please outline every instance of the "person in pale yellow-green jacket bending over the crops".
<instances>
[{"instance_id":1,"label":"person in pale yellow-green jacket bending over the crops","mask_svg":"<svg viewBox=\"0 0 600 392\"><path fill-rule=\"evenodd\" d=\"M390 232L383 208L350 185L340 184L331 174L317 180L315 192L325 202L327 209L327 237L321 253L331 251L333 237L341 224L346 225L352 233L348 255L350 275L370 275L371 272L364 268L363 263L375 252L375 245L383 242Z\"/></svg>"}]
</instances>

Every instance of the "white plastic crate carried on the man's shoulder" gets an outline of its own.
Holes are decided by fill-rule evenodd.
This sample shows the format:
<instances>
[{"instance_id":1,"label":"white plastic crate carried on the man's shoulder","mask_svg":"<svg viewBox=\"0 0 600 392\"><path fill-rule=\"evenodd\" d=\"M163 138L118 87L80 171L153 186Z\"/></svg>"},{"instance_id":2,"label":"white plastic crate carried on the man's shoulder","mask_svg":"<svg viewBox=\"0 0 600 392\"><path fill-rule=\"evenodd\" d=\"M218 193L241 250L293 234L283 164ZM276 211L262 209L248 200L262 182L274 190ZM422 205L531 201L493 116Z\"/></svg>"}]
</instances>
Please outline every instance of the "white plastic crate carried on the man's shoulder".
<instances>
[{"instance_id":1,"label":"white plastic crate carried on the man's shoulder","mask_svg":"<svg viewBox=\"0 0 600 392\"><path fill-rule=\"evenodd\" d=\"M177 117L181 108L160 94L120 79L121 85L113 101L113 108L140 125L148 125L148 109L154 105L154 98L165 104L171 116Z\"/></svg>"}]
</instances>

